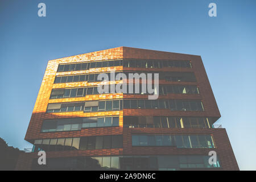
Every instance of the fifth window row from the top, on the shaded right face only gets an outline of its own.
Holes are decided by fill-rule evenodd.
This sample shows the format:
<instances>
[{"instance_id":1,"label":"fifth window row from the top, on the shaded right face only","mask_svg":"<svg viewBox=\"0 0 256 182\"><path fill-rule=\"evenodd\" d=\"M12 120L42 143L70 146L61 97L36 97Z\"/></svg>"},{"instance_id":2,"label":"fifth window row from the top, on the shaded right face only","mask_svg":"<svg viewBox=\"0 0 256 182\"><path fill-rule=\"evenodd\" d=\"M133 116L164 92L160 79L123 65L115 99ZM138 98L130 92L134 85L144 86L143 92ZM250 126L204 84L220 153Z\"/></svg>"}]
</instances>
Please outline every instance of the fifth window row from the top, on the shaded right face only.
<instances>
[{"instance_id":1,"label":"fifth window row from the top, on the shaded right face only","mask_svg":"<svg viewBox=\"0 0 256 182\"><path fill-rule=\"evenodd\" d=\"M155 128L204 128L212 127L208 118L195 117L123 117L123 127L155 127Z\"/></svg>"}]
</instances>

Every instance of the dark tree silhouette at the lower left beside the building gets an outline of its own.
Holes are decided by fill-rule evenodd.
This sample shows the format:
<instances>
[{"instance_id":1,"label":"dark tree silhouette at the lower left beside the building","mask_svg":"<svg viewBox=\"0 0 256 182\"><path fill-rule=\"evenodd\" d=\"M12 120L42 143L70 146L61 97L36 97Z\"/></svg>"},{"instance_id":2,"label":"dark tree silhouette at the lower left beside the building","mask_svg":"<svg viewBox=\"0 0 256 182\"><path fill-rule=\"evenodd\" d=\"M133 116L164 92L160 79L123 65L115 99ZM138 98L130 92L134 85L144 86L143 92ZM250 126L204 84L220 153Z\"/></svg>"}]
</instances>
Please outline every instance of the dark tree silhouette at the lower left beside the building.
<instances>
[{"instance_id":1,"label":"dark tree silhouette at the lower left beside the building","mask_svg":"<svg viewBox=\"0 0 256 182\"><path fill-rule=\"evenodd\" d=\"M22 152L19 148L8 146L5 140L0 138L0 170L14 170Z\"/></svg>"}]
</instances>

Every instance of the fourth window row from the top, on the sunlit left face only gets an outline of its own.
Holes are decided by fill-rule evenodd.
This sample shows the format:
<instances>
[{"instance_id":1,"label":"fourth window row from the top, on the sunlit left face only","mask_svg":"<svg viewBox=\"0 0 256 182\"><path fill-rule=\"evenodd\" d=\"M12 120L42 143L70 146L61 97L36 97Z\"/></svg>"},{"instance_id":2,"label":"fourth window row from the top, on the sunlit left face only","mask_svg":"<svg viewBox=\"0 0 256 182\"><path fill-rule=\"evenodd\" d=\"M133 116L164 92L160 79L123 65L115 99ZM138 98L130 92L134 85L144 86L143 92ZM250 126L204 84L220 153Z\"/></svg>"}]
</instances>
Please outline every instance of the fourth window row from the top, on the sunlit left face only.
<instances>
[{"instance_id":1,"label":"fourth window row from the top, on the sunlit left face only","mask_svg":"<svg viewBox=\"0 0 256 182\"><path fill-rule=\"evenodd\" d=\"M48 104L47 113L59 113L67 111L97 112L122 110L122 103L122 100L54 103Z\"/></svg>"}]
</instances>

